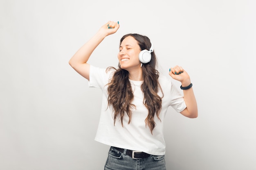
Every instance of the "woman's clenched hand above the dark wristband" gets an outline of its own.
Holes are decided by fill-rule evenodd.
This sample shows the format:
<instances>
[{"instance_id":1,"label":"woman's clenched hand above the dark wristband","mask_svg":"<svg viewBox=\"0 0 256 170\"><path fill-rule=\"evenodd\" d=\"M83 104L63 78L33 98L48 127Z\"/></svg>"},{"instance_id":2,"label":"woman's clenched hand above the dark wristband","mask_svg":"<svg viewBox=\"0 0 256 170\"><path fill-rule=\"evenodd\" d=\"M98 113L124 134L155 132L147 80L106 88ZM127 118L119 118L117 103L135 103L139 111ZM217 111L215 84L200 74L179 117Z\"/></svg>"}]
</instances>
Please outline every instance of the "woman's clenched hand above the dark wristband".
<instances>
[{"instance_id":1,"label":"woman's clenched hand above the dark wristband","mask_svg":"<svg viewBox=\"0 0 256 170\"><path fill-rule=\"evenodd\" d=\"M173 68L170 68L169 75L173 79L180 81L182 84L182 87L186 87L191 83L189 74L182 67L178 65L176 65Z\"/></svg>"}]
</instances>

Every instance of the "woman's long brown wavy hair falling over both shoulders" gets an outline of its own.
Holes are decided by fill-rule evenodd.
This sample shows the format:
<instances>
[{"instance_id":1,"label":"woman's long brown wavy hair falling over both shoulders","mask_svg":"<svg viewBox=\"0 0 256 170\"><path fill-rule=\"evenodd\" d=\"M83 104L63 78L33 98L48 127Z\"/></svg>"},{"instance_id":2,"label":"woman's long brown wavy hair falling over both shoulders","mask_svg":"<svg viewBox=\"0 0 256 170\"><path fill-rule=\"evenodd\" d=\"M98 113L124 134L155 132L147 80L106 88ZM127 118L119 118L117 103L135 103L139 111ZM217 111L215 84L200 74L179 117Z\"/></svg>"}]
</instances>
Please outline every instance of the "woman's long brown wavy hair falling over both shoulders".
<instances>
[{"instance_id":1,"label":"woman's long brown wavy hair falling over both shoulders","mask_svg":"<svg viewBox=\"0 0 256 170\"><path fill-rule=\"evenodd\" d=\"M141 50L149 50L151 47L150 39L146 36L139 34L127 34L124 35L120 40L120 45L122 41L128 37L132 36L138 42ZM108 70L114 67L109 67ZM159 72L157 68L157 58L155 52L151 53L151 60L149 63L142 65L142 74L144 82L141 84L141 91L144 94L143 104L148 109L148 116L145 119L146 126L148 125L151 133L153 134L153 129L156 126L154 121L155 115L159 118L159 113L162 108L162 97L164 94L162 88L159 85L158 77ZM114 68L115 69L115 68ZM123 124L123 118L125 113L129 117L128 124L130 124L132 119L132 108L136 109L136 106L131 104L133 99L132 87L128 79L128 71L121 69L120 64L118 64L118 69L115 69L112 80L108 83L108 106L112 105L114 109L114 124L118 116L121 118L121 124ZM161 90L162 97L158 96L158 90ZM161 120L160 120L161 121Z\"/></svg>"}]
</instances>

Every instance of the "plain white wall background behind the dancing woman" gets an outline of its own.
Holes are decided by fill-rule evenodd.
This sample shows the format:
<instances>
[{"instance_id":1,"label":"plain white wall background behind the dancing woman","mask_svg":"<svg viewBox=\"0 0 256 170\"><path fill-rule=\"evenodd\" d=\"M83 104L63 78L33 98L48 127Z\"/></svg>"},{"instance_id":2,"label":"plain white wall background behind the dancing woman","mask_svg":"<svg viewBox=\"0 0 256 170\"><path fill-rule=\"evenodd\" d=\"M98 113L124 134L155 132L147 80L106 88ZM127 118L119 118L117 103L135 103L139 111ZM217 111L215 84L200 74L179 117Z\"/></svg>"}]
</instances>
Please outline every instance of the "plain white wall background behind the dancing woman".
<instances>
[{"instance_id":1,"label":"plain white wall background behind the dancing woman","mask_svg":"<svg viewBox=\"0 0 256 170\"><path fill-rule=\"evenodd\" d=\"M168 110L166 168L255 170L255 9L254 0L1 0L0 169L103 169L101 91L68 61L114 20L118 32L90 64L116 67L119 39L140 33L163 74L181 65L191 76L199 116Z\"/></svg>"}]
</instances>

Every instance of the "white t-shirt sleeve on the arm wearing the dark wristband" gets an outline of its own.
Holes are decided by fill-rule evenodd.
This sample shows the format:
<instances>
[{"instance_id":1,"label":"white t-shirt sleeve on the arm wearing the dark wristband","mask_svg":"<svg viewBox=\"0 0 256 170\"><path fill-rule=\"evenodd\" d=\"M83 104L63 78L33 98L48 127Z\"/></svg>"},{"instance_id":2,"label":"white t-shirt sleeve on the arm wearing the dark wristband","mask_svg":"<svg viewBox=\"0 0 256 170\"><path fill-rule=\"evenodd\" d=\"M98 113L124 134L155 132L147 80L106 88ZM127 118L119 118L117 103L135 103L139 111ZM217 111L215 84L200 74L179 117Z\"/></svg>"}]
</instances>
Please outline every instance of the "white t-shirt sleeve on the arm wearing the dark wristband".
<instances>
[{"instance_id":1,"label":"white t-shirt sleeve on the arm wearing the dark wristband","mask_svg":"<svg viewBox=\"0 0 256 170\"><path fill-rule=\"evenodd\" d=\"M177 112L182 112L186 109L186 103L184 101L183 94L171 83L171 107Z\"/></svg>"}]
</instances>

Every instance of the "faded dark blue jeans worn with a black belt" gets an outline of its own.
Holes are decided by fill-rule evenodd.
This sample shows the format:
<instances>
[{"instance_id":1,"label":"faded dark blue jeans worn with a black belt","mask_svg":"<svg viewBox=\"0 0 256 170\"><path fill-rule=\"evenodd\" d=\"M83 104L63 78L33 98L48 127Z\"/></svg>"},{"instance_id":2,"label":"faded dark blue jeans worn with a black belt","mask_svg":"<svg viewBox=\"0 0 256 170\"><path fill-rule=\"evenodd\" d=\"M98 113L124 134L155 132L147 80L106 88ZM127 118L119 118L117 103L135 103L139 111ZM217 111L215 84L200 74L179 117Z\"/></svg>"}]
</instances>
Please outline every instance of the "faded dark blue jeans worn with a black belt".
<instances>
[{"instance_id":1,"label":"faded dark blue jeans worn with a black belt","mask_svg":"<svg viewBox=\"0 0 256 170\"><path fill-rule=\"evenodd\" d=\"M143 159L132 159L124 153L110 147L104 170L166 170L164 155L150 155Z\"/></svg>"}]
</instances>

